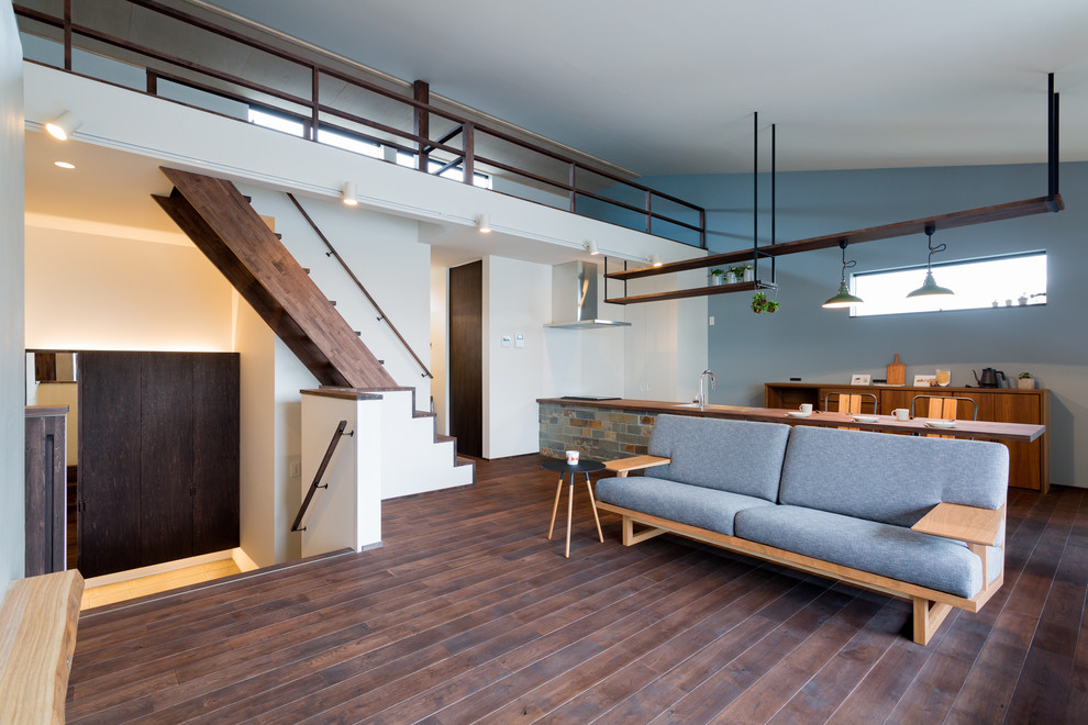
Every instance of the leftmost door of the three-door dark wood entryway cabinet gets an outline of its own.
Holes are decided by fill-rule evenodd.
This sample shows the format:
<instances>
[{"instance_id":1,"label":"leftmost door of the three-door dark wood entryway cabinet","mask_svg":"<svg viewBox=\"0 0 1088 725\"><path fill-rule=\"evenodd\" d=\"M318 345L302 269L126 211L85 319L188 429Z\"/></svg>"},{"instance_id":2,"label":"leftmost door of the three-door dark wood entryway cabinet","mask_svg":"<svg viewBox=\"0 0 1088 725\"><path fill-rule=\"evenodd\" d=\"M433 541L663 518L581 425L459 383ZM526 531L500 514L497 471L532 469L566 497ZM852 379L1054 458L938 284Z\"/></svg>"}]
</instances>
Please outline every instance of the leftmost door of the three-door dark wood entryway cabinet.
<instances>
[{"instance_id":1,"label":"leftmost door of the three-door dark wood entryway cabinet","mask_svg":"<svg viewBox=\"0 0 1088 725\"><path fill-rule=\"evenodd\" d=\"M78 568L140 566L140 354L80 353Z\"/></svg>"}]
</instances>

